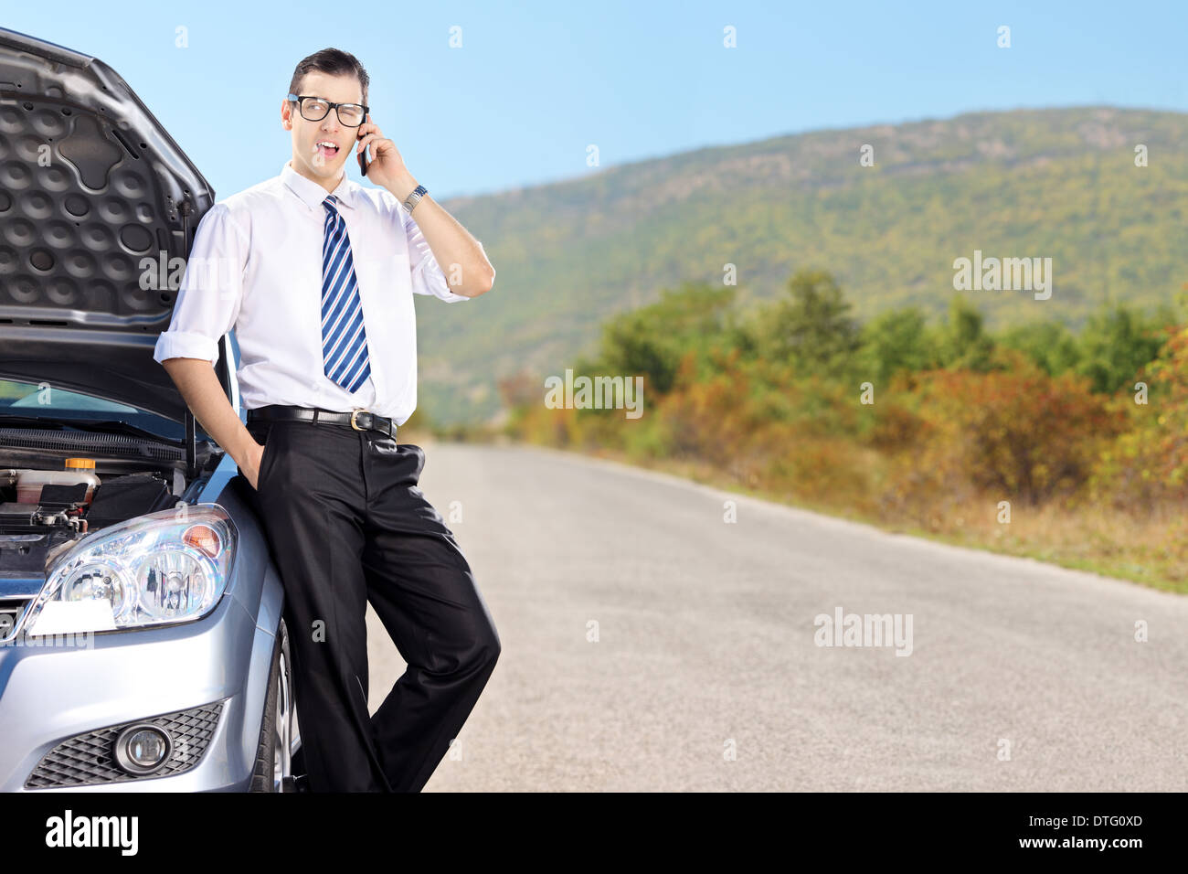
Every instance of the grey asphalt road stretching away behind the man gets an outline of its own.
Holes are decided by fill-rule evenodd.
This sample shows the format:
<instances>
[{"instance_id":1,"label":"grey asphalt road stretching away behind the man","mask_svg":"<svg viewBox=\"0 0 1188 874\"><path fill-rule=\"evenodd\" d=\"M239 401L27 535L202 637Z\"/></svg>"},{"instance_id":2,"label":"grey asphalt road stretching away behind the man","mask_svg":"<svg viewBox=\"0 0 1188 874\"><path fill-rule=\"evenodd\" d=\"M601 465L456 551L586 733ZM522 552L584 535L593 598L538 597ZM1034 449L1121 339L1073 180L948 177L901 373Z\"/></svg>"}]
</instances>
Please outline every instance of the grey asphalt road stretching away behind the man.
<instances>
[{"instance_id":1,"label":"grey asphalt road stretching away behind the man","mask_svg":"<svg viewBox=\"0 0 1188 874\"><path fill-rule=\"evenodd\" d=\"M1181 596L556 451L421 445L503 641L425 791L1188 788ZM898 614L901 645L817 646L839 609ZM368 629L374 711L404 662Z\"/></svg>"}]
</instances>

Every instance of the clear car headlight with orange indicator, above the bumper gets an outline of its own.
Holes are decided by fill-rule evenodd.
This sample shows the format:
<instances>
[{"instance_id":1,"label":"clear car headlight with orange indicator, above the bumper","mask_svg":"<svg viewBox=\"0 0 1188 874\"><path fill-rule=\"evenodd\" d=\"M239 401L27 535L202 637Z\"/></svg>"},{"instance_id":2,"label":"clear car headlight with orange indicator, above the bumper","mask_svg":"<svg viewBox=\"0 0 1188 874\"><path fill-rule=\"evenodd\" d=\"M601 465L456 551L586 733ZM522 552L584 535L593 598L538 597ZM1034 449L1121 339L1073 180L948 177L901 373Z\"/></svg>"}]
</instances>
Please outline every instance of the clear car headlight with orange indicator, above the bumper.
<instances>
[{"instance_id":1,"label":"clear car headlight with orange indicator, above the bumper","mask_svg":"<svg viewBox=\"0 0 1188 874\"><path fill-rule=\"evenodd\" d=\"M26 634L198 620L227 587L238 540L219 504L184 504L95 532L53 562Z\"/></svg>"}]
</instances>

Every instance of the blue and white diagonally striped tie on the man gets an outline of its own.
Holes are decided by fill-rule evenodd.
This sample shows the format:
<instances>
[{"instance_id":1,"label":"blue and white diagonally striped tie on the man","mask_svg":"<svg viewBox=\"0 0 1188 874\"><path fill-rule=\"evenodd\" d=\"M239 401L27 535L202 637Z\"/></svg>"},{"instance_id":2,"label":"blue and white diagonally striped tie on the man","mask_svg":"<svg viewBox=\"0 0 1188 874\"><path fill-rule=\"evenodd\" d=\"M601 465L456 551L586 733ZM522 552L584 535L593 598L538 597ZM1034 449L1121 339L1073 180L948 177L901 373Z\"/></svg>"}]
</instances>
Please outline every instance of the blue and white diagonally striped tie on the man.
<instances>
[{"instance_id":1,"label":"blue and white diagonally striped tie on the man","mask_svg":"<svg viewBox=\"0 0 1188 874\"><path fill-rule=\"evenodd\" d=\"M322 363L326 375L354 392L371 376L364 307L350 257L347 222L335 209L331 194L326 207L322 240Z\"/></svg>"}]
</instances>

